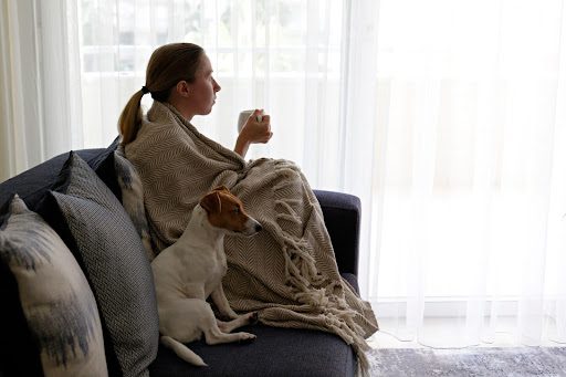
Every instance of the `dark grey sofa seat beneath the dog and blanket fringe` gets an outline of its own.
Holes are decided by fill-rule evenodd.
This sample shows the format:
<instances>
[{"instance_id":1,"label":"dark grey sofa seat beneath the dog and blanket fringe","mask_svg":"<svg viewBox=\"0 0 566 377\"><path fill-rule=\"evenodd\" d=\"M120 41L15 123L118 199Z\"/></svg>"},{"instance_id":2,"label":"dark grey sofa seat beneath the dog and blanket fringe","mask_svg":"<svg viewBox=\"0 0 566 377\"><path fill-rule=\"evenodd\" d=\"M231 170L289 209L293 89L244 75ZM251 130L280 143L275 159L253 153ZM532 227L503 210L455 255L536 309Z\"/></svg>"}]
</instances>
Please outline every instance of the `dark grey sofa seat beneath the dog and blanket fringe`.
<instances>
[{"instance_id":1,"label":"dark grey sofa seat beneath the dog and blanket fringe","mask_svg":"<svg viewBox=\"0 0 566 377\"><path fill-rule=\"evenodd\" d=\"M151 377L177 376L355 376L356 355L338 336L312 329L279 328L264 325L242 327L258 335L252 343L209 346L203 341L189 344L208 367L196 367L159 347L149 367Z\"/></svg>"}]
</instances>

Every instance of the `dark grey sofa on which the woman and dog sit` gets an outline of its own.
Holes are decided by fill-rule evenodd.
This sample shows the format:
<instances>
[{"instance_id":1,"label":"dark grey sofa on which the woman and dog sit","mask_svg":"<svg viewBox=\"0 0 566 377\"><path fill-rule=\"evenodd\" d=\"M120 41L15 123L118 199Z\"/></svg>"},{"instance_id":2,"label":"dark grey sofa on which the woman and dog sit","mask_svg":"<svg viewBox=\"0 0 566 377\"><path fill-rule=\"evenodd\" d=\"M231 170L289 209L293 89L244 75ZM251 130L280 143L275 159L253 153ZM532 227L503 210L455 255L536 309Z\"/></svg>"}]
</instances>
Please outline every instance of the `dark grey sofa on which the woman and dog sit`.
<instances>
[{"instance_id":1,"label":"dark grey sofa on which the woman and dog sit","mask_svg":"<svg viewBox=\"0 0 566 377\"><path fill-rule=\"evenodd\" d=\"M111 190L120 199L113 179L108 155L115 144L104 149L78 150ZM67 154L54 157L17 177L0 184L0 207L13 192L31 210L40 202L55 180ZM325 222L335 248L343 276L357 289L358 239L360 202L357 197L315 190L323 208ZM6 266L0 266L0 377L41 375L41 364L21 307L17 285L9 279ZM258 335L250 344L208 346L202 341L190 344L209 367L193 367L159 346L157 358L149 367L151 376L354 376L357 369L355 354L334 334L275 328L261 324L244 331Z\"/></svg>"}]
</instances>

